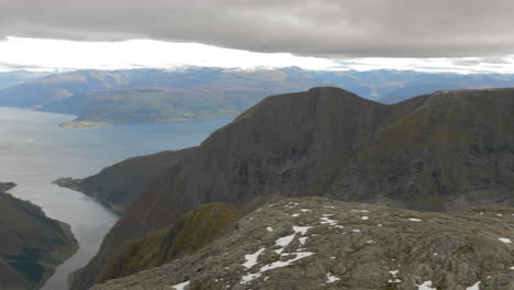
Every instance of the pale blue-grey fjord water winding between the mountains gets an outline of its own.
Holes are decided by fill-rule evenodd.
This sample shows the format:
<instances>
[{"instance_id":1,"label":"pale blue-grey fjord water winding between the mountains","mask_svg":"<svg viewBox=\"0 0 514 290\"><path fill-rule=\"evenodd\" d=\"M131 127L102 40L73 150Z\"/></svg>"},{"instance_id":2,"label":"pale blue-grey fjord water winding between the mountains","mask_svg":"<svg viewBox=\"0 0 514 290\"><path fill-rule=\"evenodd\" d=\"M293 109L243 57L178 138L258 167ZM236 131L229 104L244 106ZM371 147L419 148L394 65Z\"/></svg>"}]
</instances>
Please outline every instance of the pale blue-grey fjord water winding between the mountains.
<instances>
[{"instance_id":1,"label":"pale blue-grey fjord water winding between the mountains","mask_svg":"<svg viewBox=\"0 0 514 290\"><path fill-rule=\"evenodd\" d=\"M81 178L127 157L200 144L230 120L60 129L72 115L0 108L0 181L13 181L10 192L40 205L68 223L79 241L76 255L59 266L45 290L66 290L67 277L97 253L116 215L91 198L52 181Z\"/></svg>"}]
</instances>

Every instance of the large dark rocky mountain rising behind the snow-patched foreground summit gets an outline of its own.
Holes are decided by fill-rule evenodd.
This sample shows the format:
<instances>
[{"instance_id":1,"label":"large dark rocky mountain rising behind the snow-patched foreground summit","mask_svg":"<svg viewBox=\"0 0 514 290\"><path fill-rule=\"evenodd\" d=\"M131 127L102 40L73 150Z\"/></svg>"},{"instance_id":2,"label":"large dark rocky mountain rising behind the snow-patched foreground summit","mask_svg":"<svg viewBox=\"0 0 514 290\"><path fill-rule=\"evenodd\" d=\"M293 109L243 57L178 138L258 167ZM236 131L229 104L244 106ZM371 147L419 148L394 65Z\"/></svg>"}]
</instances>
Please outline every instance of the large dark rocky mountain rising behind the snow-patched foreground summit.
<instances>
[{"instance_id":1,"label":"large dark rocky mountain rising behind the snow-patched foreground summit","mask_svg":"<svg viewBox=\"0 0 514 290\"><path fill-rule=\"evenodd\" d=\"M145 177L144 190L131 187L137 198L72 289L93 285L137 238L209 202L242 214L312 196L418 211L512 207L513 111L514 89L438 91L393 105L329 87L267 98Z\"/></svg>"}]
</instances>

